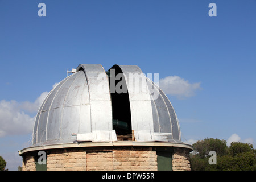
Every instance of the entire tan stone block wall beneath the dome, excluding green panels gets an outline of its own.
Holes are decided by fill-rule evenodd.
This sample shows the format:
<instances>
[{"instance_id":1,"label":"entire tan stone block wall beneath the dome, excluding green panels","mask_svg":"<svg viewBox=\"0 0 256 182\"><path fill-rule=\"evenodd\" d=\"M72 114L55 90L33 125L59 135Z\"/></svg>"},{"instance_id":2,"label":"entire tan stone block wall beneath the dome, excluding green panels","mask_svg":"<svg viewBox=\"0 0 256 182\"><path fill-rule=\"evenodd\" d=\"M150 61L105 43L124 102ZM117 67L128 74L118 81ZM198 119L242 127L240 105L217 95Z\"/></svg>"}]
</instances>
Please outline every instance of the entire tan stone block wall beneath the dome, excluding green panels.
<instances>
[{"instance_id":1,"label":"entire tan stone block wall beneath the dome, excluding green panels","mask_svg":"<svg viewBox=\"0 0 256 182\"><path fill-rule=\"evenodd\" d=\"M35 153L34 153L35 154ZM35 160L29 154L23 156L23 170L35 170ZM157 170L157 155L153 147L87 147L63 148L47 151L49 171L93 170ZM174 150L173 170L190 170L189 152Z\"/></svg>"}]
</instances>

